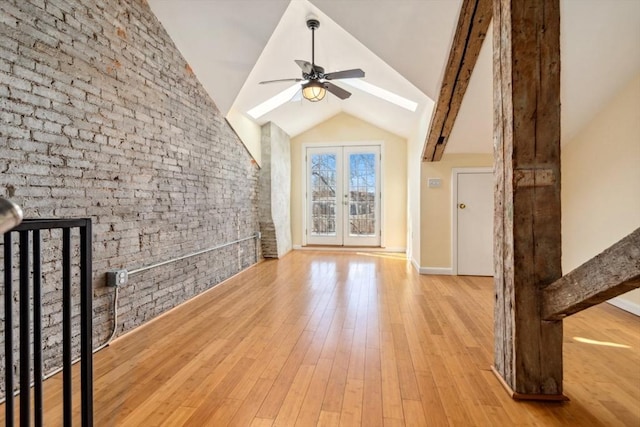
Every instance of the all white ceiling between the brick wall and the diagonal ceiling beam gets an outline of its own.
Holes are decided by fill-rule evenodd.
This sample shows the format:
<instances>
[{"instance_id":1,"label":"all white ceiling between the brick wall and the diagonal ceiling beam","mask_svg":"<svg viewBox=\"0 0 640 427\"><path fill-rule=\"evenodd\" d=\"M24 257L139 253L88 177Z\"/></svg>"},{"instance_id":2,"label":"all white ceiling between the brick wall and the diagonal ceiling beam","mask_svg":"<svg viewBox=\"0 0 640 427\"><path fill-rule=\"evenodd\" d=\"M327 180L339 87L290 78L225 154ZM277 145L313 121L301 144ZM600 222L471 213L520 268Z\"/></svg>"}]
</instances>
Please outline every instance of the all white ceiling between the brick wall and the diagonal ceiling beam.
<instances>
[{"instance_id":1,"label":"all white ceiling between the brick wall and the diagonal ceiling beam","mask_svg":"<svg viewBox=\"0 0 640 427\"><path fill-rule=\"evenodd\" d=\"M365 71L364 80L419 104L409 112L360 90L341 101L290 102L260 117L295 136L345 112L397 135L414 132L431 105L453 38L461 0L150 0L196 76L223 114L246 112L300 77L311 60L310 16L320 21L315 62L327 72ZM404 72L405 74L401 74Z\"/></svg>"}]
</instances>

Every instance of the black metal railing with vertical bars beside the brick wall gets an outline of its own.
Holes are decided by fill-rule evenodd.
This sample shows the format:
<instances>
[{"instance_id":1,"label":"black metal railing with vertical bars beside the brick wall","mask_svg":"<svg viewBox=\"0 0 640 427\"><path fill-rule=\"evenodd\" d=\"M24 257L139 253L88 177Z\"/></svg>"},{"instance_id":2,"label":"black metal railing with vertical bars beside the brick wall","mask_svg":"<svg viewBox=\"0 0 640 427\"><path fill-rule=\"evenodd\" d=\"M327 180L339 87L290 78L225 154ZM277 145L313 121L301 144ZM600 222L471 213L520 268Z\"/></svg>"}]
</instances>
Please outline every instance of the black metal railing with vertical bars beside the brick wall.
<instances>
[{"instance_id":1,"label":"black metal railing with vertical bars beside the brick wall","mask_svg":"<svg viewBox=\"0 0 640 427\"><path fill-rule=\"evenodd\" d=\"M80 390L81 424L93 425L93 352L92 352L92 267L90 219L26 219L4 234L4 351L5 351L5 423L13 426L14 414L14 307L13 307L13 234L18 240L19 282L19 380L20 425L42 426L43 420L43 336L42 336L42 230L62 230L62 377L63 425L71 426L72 405L72 229L79 229L80 284ZM53 236L52 233L49 233ZM50 240L50 239L49 239ZM55 245L54 245L55 246ZM33 295L31 295L33 290ZM32 314L33 313L33 314ZM30 320L33 318L33 327ZM30 331L33 330L33 341ZM33 342L33 358L31 357ZM31 363L33 362L33 405L31 405ZM33 414L32 414L33 410ZM33 415L33 423L31 416Z\"/></svg>"}]
</instances>

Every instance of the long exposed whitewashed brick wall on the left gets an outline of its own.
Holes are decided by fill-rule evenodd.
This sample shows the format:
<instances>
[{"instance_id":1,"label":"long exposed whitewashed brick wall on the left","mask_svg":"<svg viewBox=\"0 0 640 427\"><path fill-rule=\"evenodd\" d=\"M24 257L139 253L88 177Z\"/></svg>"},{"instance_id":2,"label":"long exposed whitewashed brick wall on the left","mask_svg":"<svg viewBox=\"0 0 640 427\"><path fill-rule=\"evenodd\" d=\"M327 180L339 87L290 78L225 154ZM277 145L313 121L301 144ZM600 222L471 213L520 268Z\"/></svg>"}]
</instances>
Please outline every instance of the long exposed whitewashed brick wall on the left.
<instances>
[{"instance_id":1,"label":"long exposed whitewashed brick wall on the left","mask_svg":"<svg viewBox=\"0 0 640 427\"><path fill-rule=\"evenodd\" d=\"M92 218L96 345L113 320L105 271L258 229L257 167L144 0L0 1L0 172L26 217ZM250 240L132 276L118 332L254 261Z\"/></svg>"}]
</instances>

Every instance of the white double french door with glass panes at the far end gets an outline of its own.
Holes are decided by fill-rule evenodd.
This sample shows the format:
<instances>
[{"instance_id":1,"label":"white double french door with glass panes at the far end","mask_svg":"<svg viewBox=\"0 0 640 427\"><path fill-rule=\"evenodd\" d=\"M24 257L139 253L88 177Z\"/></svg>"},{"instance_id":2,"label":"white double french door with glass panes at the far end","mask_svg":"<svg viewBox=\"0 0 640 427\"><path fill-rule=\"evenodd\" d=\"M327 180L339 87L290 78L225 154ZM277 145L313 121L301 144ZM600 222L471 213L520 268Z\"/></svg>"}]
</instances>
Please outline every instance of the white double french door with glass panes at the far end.
<instances>
[{"instance_id":1,"label":"white double french door with glass panes at the far end","mask_svg":"<svg viewBox=\"0 0 640 427\"><path fill-rule=\"evenodd\" d=\"M380 146L307 147L310 245L380 246Z\"/></svg>"}]
</instances>

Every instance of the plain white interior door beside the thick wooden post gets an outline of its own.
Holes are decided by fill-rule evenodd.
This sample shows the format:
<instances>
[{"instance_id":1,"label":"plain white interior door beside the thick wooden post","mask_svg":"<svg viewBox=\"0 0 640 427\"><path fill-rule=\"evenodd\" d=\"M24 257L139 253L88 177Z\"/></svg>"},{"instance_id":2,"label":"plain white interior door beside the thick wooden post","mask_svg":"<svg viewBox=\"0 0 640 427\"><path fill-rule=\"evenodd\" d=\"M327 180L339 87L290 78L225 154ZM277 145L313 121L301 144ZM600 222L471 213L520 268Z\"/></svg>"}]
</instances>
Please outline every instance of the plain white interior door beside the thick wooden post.
<instances>
[{"instance_id":1,"label":"plain white interior door beside the thick wooden post","mask_svg":"<svg viewBox=\"0 0 640 427\"><path fill-rule=\"evenodd\" d=\"M458 170L457 274L493 276L493 173Z\"/></svg>"}]
</instances>

